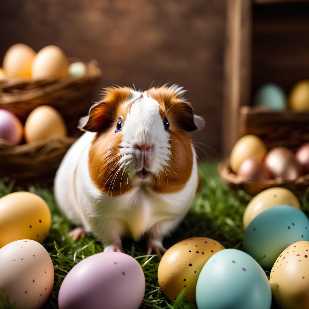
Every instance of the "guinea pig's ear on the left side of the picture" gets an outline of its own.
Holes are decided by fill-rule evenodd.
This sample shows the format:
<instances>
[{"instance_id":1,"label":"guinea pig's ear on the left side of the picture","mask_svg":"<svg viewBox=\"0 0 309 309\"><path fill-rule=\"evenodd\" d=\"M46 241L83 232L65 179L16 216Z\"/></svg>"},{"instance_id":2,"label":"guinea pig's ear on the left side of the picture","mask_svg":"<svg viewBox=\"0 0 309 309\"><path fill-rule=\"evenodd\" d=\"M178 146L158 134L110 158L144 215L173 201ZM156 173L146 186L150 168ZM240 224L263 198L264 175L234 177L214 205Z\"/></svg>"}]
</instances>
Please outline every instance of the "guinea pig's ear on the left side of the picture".
<instances>
[{"instance_id":1,"label":"guinea pig's ear on the left side of the picture","mask_svg":"<svg viewBox=\"0 0 309 309\"><path fill-rule=\"evenodd\" d=\"M105 129L110 122L107 116L107 104L105 102L99 102L91 106L88 116L80 118L78 129L98 132Z\"/></svg>"}]
</instances>

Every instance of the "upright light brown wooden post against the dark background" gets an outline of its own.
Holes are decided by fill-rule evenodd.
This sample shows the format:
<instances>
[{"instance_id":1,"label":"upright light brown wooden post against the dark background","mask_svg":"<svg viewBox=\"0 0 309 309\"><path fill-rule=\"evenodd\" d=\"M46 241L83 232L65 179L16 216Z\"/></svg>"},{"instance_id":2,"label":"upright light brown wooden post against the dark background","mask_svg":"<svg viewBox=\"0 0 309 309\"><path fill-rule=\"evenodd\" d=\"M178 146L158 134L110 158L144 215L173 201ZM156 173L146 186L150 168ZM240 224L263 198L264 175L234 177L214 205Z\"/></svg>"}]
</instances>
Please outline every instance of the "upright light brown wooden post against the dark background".
<instances>
[{"instance_id":1,"label":"upright light brown wooden post against the dark background","mask_svg":"<svg viewBox=\"0 0 309 309\"><path fill-rule=\"evenodd\" d=\"M239 138L239 107L249 103L252 71L252 0L227 1L222 151Z\"/></svg>"}]
</instances>

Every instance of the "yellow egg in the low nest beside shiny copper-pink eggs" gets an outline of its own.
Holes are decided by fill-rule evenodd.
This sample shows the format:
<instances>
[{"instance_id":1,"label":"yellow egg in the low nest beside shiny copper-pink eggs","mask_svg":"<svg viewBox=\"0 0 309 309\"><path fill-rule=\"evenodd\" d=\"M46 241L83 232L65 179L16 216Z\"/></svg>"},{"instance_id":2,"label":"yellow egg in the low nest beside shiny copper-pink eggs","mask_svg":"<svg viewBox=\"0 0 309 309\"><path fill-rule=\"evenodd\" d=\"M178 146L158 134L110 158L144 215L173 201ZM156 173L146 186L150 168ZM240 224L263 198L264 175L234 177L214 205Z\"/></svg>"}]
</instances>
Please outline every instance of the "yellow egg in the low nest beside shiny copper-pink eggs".
<instances>
[{"instance_id":1,"label":"yellow egg in the low nest beside shiny copper-pink eggs","mask_svg":"<svg viewBox=\"0 0 309 309\"><path fill-rule=\"evenodd\" d=\"M241 163L253 158L262 161L266 154L264 142L256 135L245 135L234 145L230 155L230 166L237 173Z\"/></svg>"}]
</instances>

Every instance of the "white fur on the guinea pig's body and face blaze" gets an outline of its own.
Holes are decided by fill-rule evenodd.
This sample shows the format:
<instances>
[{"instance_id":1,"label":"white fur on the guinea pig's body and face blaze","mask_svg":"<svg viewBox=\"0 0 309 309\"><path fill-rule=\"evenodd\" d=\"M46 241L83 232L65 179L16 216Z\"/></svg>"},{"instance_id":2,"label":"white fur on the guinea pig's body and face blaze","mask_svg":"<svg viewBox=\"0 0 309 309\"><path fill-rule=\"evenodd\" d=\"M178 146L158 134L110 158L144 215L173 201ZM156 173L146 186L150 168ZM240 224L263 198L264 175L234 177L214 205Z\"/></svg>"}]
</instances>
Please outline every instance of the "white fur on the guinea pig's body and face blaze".
<instances>
[{"instance_id":1,"label":"white fur on the guinea pig's body and face blaze","mask_svg":"<svg viewBox=\"0 0 309 309\"><path fill-rule=\"evenodd\" d=\"M181 95L182 88L171 87ZM132 89L125 104L132 106L122 128L119 165L124 169L131 168L130 162L136 151L134 145L146 143L154 145L155 150L144 164L152 173L159 173L172 159L159 104L146 91ZM147 235L147 253L163 253L163 237L184 218L197 190L198 169L193 146L191 175L178 192L155 193L146 185L149 180L133 176L131 189L113 196L100 192L91 180L89 150L95 136L96 132L84 133L65 155L54 184L59 207L74 224L95 235L103 243L104 251L122 251L121 238L125 235L135 240ZM182 169L181 166L176 168Z\"/></svg>"}]
</instances>

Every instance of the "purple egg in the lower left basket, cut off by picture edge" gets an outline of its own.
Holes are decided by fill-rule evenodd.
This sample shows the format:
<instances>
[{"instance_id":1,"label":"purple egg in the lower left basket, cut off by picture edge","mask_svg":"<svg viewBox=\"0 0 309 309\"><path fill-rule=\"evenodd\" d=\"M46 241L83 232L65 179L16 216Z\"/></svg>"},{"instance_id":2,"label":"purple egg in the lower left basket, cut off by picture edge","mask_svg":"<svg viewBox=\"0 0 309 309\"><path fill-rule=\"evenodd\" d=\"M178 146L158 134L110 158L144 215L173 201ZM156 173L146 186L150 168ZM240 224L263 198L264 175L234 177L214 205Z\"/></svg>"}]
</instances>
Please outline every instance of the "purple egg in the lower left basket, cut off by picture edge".
<instances>
[{"instance_id":1,"label":"purple egg in the lower left basket, cut off by picture edge","mask_svg":"<svg viewBox=\"0 0 309 309\"><path fill-rule=\"evenodd\" d=\"M0 138L19 145L23 139L23 125L11 112L0 109Z\"/></svg>"}]
</instances>

